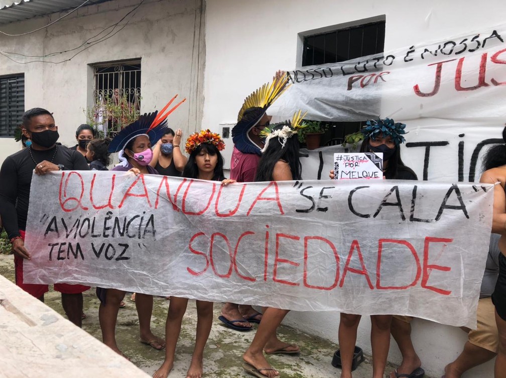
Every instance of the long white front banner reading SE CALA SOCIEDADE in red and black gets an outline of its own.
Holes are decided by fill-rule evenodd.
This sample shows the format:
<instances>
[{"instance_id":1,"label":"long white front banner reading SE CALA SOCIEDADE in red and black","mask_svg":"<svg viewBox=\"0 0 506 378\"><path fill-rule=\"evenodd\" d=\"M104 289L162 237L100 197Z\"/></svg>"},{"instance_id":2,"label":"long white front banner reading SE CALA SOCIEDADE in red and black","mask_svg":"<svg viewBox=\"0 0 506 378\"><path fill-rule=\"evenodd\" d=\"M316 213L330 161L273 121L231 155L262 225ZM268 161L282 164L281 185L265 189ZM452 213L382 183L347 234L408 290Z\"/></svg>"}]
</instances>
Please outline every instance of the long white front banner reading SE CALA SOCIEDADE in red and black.
<instances>
[{"instance_id":1,"label":"long white front banner reading SE CALA SOCIEDADE in red and black","mask_svg":"<svg viewBox=\"0 0 506 378\"><path fill-rule=\"evenodd\" d=\"M24 277L472 327L492 188L34 175Z\"/></svg>"}]
</instances>

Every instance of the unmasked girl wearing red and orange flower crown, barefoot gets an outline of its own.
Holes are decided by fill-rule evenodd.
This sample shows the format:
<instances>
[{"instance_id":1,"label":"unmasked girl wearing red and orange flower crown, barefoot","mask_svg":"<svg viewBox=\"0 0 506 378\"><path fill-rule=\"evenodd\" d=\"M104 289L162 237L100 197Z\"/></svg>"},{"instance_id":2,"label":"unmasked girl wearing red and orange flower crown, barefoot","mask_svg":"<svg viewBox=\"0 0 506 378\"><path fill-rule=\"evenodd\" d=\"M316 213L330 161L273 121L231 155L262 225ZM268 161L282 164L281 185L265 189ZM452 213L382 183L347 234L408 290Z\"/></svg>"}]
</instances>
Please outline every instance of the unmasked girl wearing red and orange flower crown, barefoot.
<instances>
[{"instance_id":1,"label":"unmasked girl wearing red and orange flower crown, barefoot","mask_svg":"<svg viewBox=\"0 0 506 378\"><path fill-rule=\"evenodd\" d=\"M227 185L234 180L225 179L223 174L223 157L220 153L225 148L219 134L202 130L190 135L186 141L186 152L190 154L188 163L183 171L183 177L199 180L222 181ZM166 378L174 366L176 344L181 332L183 315L188 305L187 298L171 297L168 306L167 321L165 323L165 360L153 374L154 378ZM197 332L195 348L187 377L200 378L203 372L202 360L204 347L211 332L213 324L213 302L196 301L197 305Z\"/></svg>"}]
</instances>

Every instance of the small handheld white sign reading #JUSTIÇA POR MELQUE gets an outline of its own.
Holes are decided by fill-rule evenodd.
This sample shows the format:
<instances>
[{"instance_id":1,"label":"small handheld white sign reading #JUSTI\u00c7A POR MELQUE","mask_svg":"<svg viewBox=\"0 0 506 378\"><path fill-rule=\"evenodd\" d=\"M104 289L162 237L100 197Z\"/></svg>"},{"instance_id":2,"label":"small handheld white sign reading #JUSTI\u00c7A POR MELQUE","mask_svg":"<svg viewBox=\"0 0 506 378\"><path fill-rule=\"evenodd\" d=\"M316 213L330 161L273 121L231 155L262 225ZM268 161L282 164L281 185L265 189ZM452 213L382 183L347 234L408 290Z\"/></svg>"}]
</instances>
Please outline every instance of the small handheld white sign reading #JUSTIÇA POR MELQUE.
<instances>
[{"instance_id":1,"label":"small handheld white sign reading #JUSTI\u00c7A POR MELQUE","mask_svg":"<svg viewBox=\"0 0 506 378\"><path fill-rule=\"evenodd\" d=\"M383 179L383 153L334 154L334 179Z\"/></svg>"}]
</instances>

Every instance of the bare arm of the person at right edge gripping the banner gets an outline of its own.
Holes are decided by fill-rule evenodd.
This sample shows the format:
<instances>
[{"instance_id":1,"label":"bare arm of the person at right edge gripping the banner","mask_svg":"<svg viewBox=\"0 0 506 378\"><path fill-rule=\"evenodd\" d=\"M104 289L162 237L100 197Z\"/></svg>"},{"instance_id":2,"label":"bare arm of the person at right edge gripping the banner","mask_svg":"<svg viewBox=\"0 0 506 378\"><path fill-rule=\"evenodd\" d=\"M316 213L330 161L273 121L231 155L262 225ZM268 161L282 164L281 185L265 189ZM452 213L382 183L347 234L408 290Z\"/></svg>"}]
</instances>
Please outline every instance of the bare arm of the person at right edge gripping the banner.
<instances>
[{"instance_id":1,"label":"bare arm of the person at right edge gripping the banner","mask_svg":"<svg viewBox=\"0 0 506 378\"><path fill-rule=\"evenodd\" d=\"M492 232L506 235L506 193L504 192L504 177L506 173L504 168L492 168L480 177L480 182L495 184L494 186L494 205L492 217Z\"/></svg>"}]
</instances>

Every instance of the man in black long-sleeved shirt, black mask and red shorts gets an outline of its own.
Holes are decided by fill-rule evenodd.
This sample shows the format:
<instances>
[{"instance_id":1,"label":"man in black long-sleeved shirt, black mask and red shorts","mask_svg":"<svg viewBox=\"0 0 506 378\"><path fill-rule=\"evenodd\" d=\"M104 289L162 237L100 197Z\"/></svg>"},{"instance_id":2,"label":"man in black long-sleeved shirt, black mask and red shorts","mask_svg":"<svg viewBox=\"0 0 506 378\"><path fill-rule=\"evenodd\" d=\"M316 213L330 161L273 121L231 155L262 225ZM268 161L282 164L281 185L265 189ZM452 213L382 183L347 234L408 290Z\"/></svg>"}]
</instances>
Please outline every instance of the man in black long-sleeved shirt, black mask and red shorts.
<instances>
[{"instance_id":1,"label":"man in black long-sleeved shirt, black mask and red shorts","mask_svg":"<svg viewBox=\"0 0 506 378\"><path fill-rule=\"evenodd\" d=\"M25 248L24 230L28 215L32 173L44 175L50 171L71 169L88 170L85 158L76 151L56 144L58 127L53 115L45 109L33 108L22 118L23 134L32 144L5 159L0 169L0 217L9 235L16 267L16 285L44 302L47 285L23 283L23 259L30 259ZM89 289L82 285L55 283L55 290L62 294L62 306L69 320L81 326L82 292Z\"/></svg>"}]
</instances>

